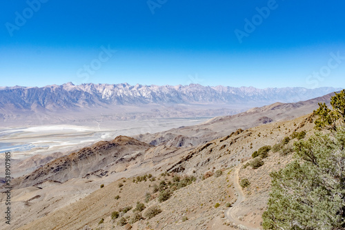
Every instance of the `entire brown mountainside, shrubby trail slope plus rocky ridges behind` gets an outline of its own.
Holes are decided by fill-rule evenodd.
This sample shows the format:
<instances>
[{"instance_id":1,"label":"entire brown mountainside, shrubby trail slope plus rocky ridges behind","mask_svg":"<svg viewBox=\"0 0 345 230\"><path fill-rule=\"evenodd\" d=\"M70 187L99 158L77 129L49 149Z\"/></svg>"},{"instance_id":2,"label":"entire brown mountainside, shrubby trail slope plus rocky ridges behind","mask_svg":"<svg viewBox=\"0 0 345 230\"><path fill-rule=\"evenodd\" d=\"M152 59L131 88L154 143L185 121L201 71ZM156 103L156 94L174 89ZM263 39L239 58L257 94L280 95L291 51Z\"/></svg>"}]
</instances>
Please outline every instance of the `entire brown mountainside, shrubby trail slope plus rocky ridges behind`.
<instances>
[{"instance_id":1,"label":"entire brown mountainside, shrubby trail slope plus rocky ridges behind","mask_svg":"<svg viewBox=\"0 0 345 230\"><path fill-rule=\"evenodd\" d=\"M293 142L313 134L311 114L294 117L329 98L275 103L141 140L119 136L52 160L13 180L10 229L261 229L270 171L292 160ZM204 140L181 144L195 134Z\"/></svg>"}]
</instances>

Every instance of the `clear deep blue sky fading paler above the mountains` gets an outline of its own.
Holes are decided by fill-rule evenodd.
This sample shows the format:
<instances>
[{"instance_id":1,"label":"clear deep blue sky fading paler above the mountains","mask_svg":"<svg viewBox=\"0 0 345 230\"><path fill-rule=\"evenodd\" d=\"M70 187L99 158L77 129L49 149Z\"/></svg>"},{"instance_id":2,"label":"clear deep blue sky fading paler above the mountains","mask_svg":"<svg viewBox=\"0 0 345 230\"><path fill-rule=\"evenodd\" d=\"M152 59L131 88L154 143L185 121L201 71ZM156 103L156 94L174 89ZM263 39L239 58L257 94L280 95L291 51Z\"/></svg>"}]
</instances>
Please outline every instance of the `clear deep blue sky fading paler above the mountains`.
<instances>
[{"instance_id":1,"label":"clear deep blue sky fading paler above the mountains","mask_svg":"<svg viewBox=\"0 0 345 230\"><path fill-rule=\"evenodd\" d=\"M0 9L0 86L345 87L344 1L29 0Z\"/></svg>"}]
</instances>

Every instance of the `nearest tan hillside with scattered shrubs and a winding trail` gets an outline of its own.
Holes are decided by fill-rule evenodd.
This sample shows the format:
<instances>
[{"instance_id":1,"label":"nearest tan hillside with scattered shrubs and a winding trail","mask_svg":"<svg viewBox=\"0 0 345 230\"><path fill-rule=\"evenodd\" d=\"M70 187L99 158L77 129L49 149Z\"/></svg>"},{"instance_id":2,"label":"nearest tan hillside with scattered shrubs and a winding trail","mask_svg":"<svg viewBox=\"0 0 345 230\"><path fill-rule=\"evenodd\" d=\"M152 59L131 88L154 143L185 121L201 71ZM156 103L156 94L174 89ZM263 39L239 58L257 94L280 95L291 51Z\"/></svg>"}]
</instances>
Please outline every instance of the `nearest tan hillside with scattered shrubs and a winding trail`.
<instances>
[{"instance_id":1,"label":"nearest tan hillside with scattered shrubs and a winding trail","mask_svg":"<svg viewBox=\"0 0 345 230\"><path fill-rule=\"evenodd\" d=\"M157 155L164 155L164 147L151 147L154 154L145 157L150 159L150 167L144 169L138 163L137 167L126 170L137 174L120 173L122 178L116 180L112 177L116 174L88 176L64 183L47 180L34 187L15 189L14 206L21 207L21 211L13 226L18 229L261 229L261 215L270 189L269 173L290 162L292 153L269 151L258 168L251 166L251 155L264 145L281 143L294 132L310 135L312 122L310 116L302 116L293 121L239 129L176 155L168 154L176 148L169 149L166 160L154 160ZM291 139L284 148L288 149L297 140ZM179 181L187 177L195 179L183 186L176 182L177 176ZM245 178L248 184L242 188L241 181ZM104 187L100 188L101 183ZM94 189L90 189L92 185ZM77 188L78 192L72 190ZM167 188L172 189L170 198L160 200ZM83 189L88 194L83 194ZM80 194L76 196L77 193ZM236 202L239 198L242 202ZM59 202L65 205L57 207ZM137 202L144 204L141 207L144 210L133 212ZM146 216L146 211L155 205L161 212ZM130 210L124 211L127 209ZM119 216L115 213L112 217L116 211ZM137 214L139 217L135 219Z\"/></svg>"}]
</instances>

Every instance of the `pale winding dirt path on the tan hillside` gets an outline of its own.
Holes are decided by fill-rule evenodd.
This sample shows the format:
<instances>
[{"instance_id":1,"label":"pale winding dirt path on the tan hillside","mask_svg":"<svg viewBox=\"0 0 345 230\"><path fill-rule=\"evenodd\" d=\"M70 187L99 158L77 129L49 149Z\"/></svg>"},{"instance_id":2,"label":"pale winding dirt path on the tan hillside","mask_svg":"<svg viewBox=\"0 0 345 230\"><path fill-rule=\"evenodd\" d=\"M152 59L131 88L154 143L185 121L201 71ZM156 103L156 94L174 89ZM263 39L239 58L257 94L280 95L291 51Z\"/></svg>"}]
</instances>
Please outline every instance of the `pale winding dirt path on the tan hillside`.
<instances>
[{"instance_id":1,"label":"pale winding dirt path on the tan hillside","mask_svg":"<svg viewBox=\"0 0 345 230\"><path fill-rule=\"evenodd\" d=\"M248 230L259 230L259 229L255 229L253 227L248 226L245 222L238 220L235 215L235 208L238 207L244 200L246 200L246 197L244 196L244 193L242 191L242 187L239 185L239 169L241 168L241 165L237 166L237 169L235 170L235 174L233 174L232 178L233 178L233 186L235 188L235 192L237 193L237 200L235 203L233 203L233 205L226 210L225 217L230 220L231 222L234 222L237 225L242 225L244 227L246 227L246 229Z\"/></svg>"}]
</instances>

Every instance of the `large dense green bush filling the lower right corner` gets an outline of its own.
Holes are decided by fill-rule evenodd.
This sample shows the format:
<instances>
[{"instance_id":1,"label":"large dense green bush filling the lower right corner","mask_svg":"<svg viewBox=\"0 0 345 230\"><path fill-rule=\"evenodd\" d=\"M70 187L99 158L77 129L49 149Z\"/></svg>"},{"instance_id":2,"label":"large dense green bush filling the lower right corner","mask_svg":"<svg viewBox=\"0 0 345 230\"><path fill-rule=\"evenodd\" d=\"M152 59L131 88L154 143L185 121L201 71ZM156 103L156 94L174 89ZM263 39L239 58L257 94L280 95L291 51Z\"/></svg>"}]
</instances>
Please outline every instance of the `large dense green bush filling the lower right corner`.
<instances>
[{"instance_id":1,"label":"large dense green bush filling the lower right corner","mask_svg":"<svg viewBox=\"0 0 345 230\"><path fill-rule=\"evenodd\" d=\"M263 229L345 229L345 168L339 161L345 156L344 129L294 145L295 160L270 174Z\"/></svg>"}]
</instances>

